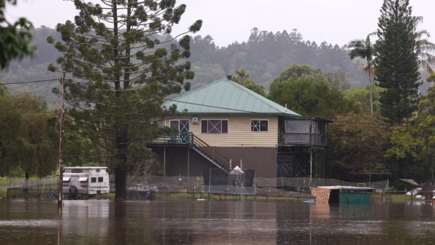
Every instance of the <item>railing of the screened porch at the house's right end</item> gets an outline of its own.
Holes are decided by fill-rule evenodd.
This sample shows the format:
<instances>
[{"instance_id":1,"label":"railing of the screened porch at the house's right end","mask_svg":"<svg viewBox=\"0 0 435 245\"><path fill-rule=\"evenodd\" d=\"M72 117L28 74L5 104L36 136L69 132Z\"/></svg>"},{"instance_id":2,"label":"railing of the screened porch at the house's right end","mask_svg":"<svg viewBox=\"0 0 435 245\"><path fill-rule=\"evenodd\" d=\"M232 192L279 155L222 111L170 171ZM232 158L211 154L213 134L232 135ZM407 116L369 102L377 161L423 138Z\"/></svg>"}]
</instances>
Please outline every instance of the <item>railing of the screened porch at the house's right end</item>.
<instances>
[{"instance_id":1,"label":"railing of the screened porch at the house's right end","mask_svg":"<svg viewBox=\"0 0 435 245\"><path fill-rule=\"evenodd\" d=\"M279 133L280 145L317 145L328 146L328 137L311 133Z\"/></svg>"}]
</instances>

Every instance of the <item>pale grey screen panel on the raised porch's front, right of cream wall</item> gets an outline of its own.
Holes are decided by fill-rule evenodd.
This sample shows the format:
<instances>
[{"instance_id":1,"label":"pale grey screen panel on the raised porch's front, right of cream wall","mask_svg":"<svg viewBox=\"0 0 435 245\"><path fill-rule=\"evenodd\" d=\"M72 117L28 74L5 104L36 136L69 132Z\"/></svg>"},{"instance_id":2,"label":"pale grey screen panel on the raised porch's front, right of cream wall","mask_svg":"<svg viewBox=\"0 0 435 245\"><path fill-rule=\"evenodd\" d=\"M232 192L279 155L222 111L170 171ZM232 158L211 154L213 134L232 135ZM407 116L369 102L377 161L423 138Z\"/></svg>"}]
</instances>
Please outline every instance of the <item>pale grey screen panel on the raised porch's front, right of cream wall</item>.
<instances>
[{"instance_id":1,"label":"pale grey screen panel on the raised porch's front, right of cream wall","mask_svg":"<svg viewBox=\"0 0 435 245\"><path fill-rule=\"evenodd\" d=\"M310 141L310 120L285 120L284 121L284 142L309 142Z\"/></svg>"}]
</instances>

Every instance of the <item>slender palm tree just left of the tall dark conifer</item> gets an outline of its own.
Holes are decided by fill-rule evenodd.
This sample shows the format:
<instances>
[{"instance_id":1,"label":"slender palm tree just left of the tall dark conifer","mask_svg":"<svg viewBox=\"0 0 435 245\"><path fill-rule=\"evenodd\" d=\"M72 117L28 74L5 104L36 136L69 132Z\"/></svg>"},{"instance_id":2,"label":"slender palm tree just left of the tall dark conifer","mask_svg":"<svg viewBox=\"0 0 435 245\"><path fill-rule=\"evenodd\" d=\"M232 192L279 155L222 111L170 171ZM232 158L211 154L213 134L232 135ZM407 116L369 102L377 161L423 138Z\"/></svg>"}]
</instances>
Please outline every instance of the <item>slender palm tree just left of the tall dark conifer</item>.
<instances>
[{"instance_id":1,"label":"slender palm tree just left of the tall dark conifer","mask_svg":"<svg viewBox=\"0 0 435 245\"><path fill-rule=\"evenodd\" d=\"M349 48L352 48L349 52L350 59L355 58L364 59L367 64L364 66L363 71L368 73L368 81L370 88L370 112L373 112L373 92L371 90L371 76L374 74L374 53L375 46L370 42L370 35L367 35L367 39L355 39L349 42ZM373 75L374 76L374 75ZM374 83L374 81L373 81Z\"/></svg>"}]
</instances>

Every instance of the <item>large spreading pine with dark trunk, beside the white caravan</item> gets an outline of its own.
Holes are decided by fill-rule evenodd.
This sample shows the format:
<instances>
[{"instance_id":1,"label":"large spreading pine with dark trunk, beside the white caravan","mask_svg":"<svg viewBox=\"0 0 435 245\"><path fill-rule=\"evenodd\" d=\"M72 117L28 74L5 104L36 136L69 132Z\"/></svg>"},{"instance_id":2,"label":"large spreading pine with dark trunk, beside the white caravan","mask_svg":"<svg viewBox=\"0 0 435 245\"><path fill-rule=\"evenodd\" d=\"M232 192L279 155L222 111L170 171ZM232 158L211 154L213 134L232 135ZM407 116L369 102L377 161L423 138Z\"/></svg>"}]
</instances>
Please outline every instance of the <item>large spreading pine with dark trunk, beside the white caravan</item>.
<instances>
[{"instance_id":1,"label":"large spreading pine with dark trunk, beside the white caravan","mask_svg":"<svg viewBox=\"0 0 435 245\"><path fill-rule=\"evenodd\" d=\"M80 14L56 26L63 42L50 36L47 41L64 54L57 64L86 80L67 82L67 103L73 106L68 114L81 126L77 133L100 149L88 157L113 167L115 198L125 198L129 167L152 157L145 142L171 133L159 128L156 118L175 112L161 108L162 98L190 88L184 80L194 74L189 62L181 62L190 56L185 34L199 31L202 21L172 37L172 26L186 10L174 0L73 2ZM57 70L54 65L48 69Z\"/></svg>"}]
</instances>

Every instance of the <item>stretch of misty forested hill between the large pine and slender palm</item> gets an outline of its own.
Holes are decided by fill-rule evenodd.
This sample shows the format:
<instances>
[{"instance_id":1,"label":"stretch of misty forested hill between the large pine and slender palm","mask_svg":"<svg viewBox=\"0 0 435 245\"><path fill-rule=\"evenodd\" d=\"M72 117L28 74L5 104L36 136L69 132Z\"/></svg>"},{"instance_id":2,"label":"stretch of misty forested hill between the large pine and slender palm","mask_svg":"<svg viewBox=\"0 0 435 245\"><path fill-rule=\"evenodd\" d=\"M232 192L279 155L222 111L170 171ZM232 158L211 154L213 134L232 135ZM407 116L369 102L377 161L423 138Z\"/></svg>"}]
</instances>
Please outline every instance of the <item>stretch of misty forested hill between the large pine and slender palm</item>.
<instances>
[{"instance_id":1,"label":"stretch of misty forested hill between the large pine and slender palm","mask_svg":"<svg viewBox=\"0 0 435 245\"><path fill-rule=\"evenodd\" d=\"M269 82L292 63L307 64L324 73L341 69L351 87L365 87L368 77L361 72L362 63L351 61L346 47L326 41L320 44L304 41L295 29L290 33L284 30L273 34L254 28L246 42L234 42L227 47L215 46L210 35L195 36L190 58L195 71L192 89L243 68L251 74L253 81L264 84L268 90Z\"/></svg>"}]
</instances>

